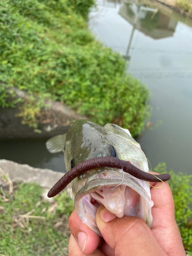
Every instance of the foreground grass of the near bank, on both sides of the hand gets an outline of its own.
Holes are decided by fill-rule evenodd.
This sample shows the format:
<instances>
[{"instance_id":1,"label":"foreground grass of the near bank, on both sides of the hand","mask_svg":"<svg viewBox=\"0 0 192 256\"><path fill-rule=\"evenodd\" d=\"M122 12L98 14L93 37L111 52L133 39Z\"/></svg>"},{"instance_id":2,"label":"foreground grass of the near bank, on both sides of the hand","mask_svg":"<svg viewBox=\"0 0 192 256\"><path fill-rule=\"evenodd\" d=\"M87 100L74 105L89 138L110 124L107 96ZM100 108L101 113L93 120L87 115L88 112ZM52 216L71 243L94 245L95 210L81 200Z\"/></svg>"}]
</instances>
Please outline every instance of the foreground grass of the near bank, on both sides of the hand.
<instances>
[{"instance_id":1,"label":"foreground grass of the near bank, on both sides of the hand","mask_svg":"<svg viewBox=\"0 0 192 256\"><path fill-rule=\"evenodd\" d=\"M155 171L166 173L166 164L159 164ZM192 255L192 176L177 175L173 171L169 174L172 177L168 182L174 196L176 221L184 248ZM6 189L0 190L0 254L68 255L68 218L74 203L66 191L56 197L55 203L49 203L42 200L38 185L13 185L14 192L10 195Z\"/></svg>"}]
</instances>

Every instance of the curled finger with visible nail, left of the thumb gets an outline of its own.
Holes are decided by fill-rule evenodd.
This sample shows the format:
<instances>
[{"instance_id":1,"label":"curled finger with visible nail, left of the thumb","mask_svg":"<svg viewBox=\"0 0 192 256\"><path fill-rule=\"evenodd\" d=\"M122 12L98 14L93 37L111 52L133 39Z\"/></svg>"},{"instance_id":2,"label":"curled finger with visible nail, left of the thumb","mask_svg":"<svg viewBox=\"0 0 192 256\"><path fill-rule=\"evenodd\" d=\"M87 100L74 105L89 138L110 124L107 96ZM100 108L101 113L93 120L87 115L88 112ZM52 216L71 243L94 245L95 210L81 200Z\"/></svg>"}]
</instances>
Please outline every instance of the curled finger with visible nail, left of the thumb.
<instances>
[{"instance_id":1,"label":"curled finger with visible nail, left of the thumb","mask_svg":"<svg viewBox=\"0 0 192 256\"><path fill-rule=\"evenodd\" d=\"M84 254L93 253L101 245L103 239L82 223L75 210L69 218L69 227Z\"/></svg>"}]
</instances>

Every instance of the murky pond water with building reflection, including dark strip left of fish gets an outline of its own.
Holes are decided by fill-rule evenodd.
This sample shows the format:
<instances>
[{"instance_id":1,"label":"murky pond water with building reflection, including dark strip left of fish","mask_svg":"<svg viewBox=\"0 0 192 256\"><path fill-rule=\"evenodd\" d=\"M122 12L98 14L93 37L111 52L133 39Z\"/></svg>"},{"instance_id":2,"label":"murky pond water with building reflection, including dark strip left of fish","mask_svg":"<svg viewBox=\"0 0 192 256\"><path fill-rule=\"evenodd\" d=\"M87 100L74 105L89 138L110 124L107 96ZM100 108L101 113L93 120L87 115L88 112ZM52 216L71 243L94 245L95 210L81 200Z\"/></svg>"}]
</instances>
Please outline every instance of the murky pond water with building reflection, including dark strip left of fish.
<instances>
[{"instance_id":1,"label":"murky pond water with building reflection, including dark strip left of fish","mask_svg":"<svg viewBox=\"0 0 192 256\"><path fill-rule=\"evenodd\" d=\"M137 138L152 168L166 162L168 169L192 174L192 19L156 1L136 3L98 1L89 26L122 53L127 71L152 93L153 126ZM0 159L66 172L63 154L50 154L46 141L0 141Z\"/></svg>"}]
</instances>

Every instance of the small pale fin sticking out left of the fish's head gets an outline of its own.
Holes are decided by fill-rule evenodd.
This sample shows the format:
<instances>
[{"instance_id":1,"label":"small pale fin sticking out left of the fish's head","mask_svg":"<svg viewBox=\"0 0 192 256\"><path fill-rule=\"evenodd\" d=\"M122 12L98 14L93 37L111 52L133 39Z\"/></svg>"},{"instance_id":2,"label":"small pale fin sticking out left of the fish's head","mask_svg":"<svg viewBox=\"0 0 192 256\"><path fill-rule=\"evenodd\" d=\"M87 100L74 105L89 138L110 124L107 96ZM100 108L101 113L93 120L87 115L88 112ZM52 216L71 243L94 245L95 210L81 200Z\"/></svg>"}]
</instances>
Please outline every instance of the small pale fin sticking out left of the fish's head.
<instances>
[{"instance_id":1,"label":"small pale fin sticking out left of the fish's head","mask_svg":"<svg viewBox=\"0 0 192 256\"><path fill-rule=\"evenodd\" d=\"M46 142L47 149L50 153L58 153L63 151L66 143L66 134L52 137Z\"/></svg>"}]
</instances>

